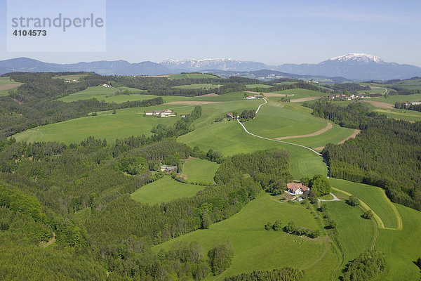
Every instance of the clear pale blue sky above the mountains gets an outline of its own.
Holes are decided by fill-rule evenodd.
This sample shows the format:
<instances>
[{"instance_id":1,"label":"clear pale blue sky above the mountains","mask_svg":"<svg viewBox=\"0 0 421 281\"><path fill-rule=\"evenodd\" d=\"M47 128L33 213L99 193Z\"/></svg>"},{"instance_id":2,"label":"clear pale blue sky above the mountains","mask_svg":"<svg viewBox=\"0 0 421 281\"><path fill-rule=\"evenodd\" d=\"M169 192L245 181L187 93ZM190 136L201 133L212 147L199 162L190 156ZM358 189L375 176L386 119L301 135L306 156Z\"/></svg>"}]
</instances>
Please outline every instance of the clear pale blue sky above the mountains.
<instances>
[{"instance_id":1,"label":"clear pale blue sky above the mountains","mask_svg":"<svg viewBox=\"0 0 421 281\"><path fill-rule=\"evenodd\" d=\"M0 0L0 60L26 56L51 63L138 63L236 58L276 65L370 53L421 66L419 0L107 0L107 51L98 53L8 52L6 13L6 0Z\"/></svg>"}]
</instances>

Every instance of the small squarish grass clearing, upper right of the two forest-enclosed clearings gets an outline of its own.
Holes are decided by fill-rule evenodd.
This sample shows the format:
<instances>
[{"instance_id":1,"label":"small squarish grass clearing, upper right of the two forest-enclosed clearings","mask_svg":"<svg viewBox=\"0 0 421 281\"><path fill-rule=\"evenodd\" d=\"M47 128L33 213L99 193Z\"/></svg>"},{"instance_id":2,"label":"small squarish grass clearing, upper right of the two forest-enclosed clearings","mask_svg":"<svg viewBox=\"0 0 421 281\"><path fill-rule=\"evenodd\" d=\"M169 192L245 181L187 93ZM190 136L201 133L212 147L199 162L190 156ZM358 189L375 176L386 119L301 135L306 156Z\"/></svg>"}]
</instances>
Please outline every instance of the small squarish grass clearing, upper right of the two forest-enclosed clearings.
<instances>
[{"instance_id":1,"label":"small squarish grass clearing, upper right of the two forest-enclosed clearings","mask_svg":"<svg viewBox=\"0 0 421 281\"><path fill-rule=\"evenodd\" d=\"M215 176L218 167L219 164L216 162L191 158L185 163L182 174L187 176L186 181L189 183L214 184L213 176Z\"/></svg>"}]
</instances>

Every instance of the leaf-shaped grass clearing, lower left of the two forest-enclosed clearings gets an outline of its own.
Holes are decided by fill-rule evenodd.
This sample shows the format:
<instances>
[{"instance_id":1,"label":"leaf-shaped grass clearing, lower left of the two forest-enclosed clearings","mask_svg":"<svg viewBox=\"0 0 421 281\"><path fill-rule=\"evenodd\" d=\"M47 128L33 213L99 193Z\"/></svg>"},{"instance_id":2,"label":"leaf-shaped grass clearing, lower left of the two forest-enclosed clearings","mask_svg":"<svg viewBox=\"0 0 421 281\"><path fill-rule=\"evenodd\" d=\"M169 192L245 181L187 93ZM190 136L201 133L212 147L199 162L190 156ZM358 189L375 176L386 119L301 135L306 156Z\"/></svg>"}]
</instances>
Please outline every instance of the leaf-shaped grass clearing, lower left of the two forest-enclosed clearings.
<instances>
[{"instance_id":1,"label":"leaf-shaped grass clearing, lower left of the two forest-enclosed clearings","mask_svg":"<svg viewBox=\"0 0 421 281\"><path fill-rule=\"evenodd\" d=\"M131 194L131 198L142 203L161 204L177 198L192 197L203 188L203 185L180 183L170 176L164 176L157 181L142 186Z\"/></svg>"}]
</instances>

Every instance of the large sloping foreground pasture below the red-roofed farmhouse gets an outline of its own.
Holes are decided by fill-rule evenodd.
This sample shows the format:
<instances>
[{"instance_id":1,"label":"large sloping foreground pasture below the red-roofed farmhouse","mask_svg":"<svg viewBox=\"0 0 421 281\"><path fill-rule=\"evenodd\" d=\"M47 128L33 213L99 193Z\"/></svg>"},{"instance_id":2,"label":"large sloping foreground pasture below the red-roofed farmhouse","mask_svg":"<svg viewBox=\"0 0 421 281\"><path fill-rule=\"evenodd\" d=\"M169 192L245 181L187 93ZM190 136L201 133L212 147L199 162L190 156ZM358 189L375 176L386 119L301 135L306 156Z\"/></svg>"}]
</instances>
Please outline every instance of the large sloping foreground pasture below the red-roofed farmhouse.
<instances>
[{"instance_id":1,"label":"large sloping foreground pasture below the red-roofed farmhouse","mask_svg":"<svg viewBox=\"0 0 421 281\"><path fill-rule=\"evenodd\" d=\"M264 228L267 221L274 223L279 219L286 225L294 218L300 218L296 221L299 226L324 232L309 209L300 204L276 202L262 192L256 200L231 218L215 223L207 230L196 230L169 240L153 249L159 251L159 249L169 249L174 243L197 241L203 246L203 255L206 255L218 242L229 240L234 248L232 266L222 275L208 277L207 280L222 280L223 277L230 275L253 270L271 270L281 266L297 266L301 269L310 267L312 280L326 280L332 265L337 262L337 256L331 252L331 248L319 263L312 266L312 263L321 258L326 251L328 242L325 239L300 238L283 231ZM299 256L305 256L305 259L299 259L300 262L297 263L295 260Z\"/></svg>"}]
</instances>

